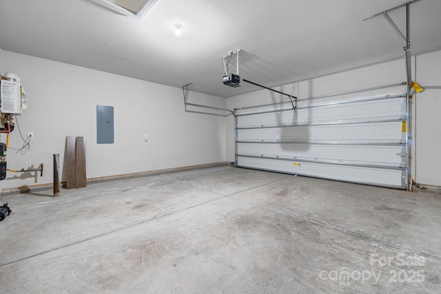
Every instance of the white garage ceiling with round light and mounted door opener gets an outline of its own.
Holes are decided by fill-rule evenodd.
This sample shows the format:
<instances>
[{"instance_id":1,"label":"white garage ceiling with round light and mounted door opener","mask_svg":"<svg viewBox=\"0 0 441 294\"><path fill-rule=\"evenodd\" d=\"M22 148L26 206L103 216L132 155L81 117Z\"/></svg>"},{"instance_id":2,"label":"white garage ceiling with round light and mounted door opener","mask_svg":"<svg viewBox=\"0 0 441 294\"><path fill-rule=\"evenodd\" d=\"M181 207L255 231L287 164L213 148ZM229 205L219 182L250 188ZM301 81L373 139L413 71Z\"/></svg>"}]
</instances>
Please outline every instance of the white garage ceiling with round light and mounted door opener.
<instances>
[{"instance_id":1,"label":"white garage ceiling with round light and mounted door opener","mask_svg":"<svg viewBox=\"0 0 441 294\"><path fill-rule=\"evenodd\" d=\"M362 19L405 2L158 0L137 20L92 0L0 0L0 48L229 97L258 90L223 85L229 50L242 50L241 77L269 87L402 59L386 19ZM413 54L441 50L440 11L439 0L411 5ZM389 15L405 33L405 9Z\"/></svg>"}]
</instances>

